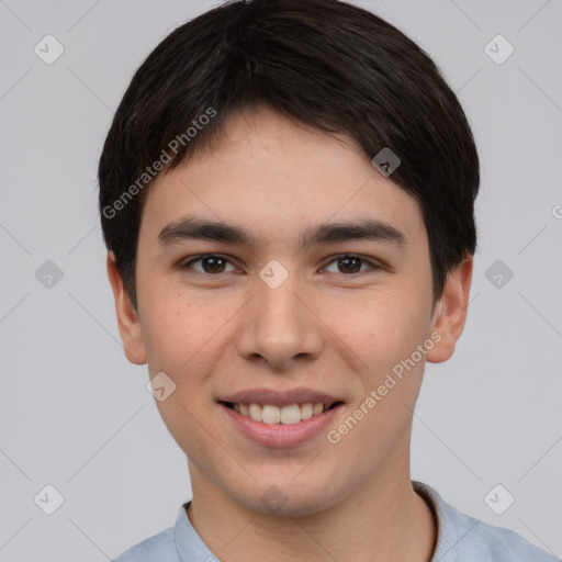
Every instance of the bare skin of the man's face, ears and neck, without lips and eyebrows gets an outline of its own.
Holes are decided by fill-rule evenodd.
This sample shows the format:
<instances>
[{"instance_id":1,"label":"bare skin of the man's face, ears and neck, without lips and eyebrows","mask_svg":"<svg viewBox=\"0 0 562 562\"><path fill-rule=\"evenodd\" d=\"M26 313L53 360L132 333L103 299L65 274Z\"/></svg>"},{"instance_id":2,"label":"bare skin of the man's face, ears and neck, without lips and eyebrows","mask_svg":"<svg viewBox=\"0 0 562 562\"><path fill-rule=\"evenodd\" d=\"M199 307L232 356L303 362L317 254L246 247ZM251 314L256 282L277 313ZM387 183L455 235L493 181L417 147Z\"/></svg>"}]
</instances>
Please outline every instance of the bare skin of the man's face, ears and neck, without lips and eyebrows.
<instances>
[{"instance_id":1,"label":"bare skin of the man's face, ears and neck, without lips and eyebrows","mask_svg":"<svg viewBox=\"0 0 562 562\"><path fill-rule=\"evenodd\" d=\"M188 215L239 225L262 244L158 241ZM299 251L305 228L358 217L392 225L405 245L348 240ZM202 254L227 261L186 267ZM341 263L345 254L361 259ZM277 289L259 277L272 259L289 273ZM126 357L176 383L157 406L189 459L188 516L221 560L431 559L436 522L409 475L413 411L425 360L446 361L462 333L472 257L434 303L420 207L352 139L266 106L229 115L211 150L150 186L137 310L111 252L108 271ZM431 334L440 341L337 445L325 431L289 449L257 445L216 403L220 393L306 386L345 401L334 429ZM260 502L271 485L286 497L277 514Z\"/></svg>"}]
</instances>

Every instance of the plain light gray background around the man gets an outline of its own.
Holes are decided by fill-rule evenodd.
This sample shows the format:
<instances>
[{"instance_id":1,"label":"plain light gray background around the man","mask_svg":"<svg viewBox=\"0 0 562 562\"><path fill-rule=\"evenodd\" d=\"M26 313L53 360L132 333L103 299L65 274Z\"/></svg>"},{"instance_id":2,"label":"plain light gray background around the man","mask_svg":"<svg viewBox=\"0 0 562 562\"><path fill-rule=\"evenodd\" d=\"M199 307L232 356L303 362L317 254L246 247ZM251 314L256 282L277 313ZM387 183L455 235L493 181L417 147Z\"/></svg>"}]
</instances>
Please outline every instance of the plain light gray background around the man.
<instances>
[{"instance_id":1,"label":"plain light gray background around the man","mask_svg":"<svg viewBox=\"0 0 562 562\"><path fill-rule=\"evenodd\" d=\"M133 71L215 3L0 1L4 562L108 560L170 527L191 497L147 369L121 347L95 170ZM357 3L442 68L483 165L468 324L454 357L427 368L413 476L562 557L562 1ZM52 65L34 53L47 34L65 49ZM484 50L497 34L515 47L502 65ZM42 277L49 266L37 279L46 260L60 280ZM501 288L486 278L496 260L514 273ZM47 484L65 499L50 516L34 503ZM496 484L515 496L503 515L484 502Z\"/></svg>"}]
</instances>

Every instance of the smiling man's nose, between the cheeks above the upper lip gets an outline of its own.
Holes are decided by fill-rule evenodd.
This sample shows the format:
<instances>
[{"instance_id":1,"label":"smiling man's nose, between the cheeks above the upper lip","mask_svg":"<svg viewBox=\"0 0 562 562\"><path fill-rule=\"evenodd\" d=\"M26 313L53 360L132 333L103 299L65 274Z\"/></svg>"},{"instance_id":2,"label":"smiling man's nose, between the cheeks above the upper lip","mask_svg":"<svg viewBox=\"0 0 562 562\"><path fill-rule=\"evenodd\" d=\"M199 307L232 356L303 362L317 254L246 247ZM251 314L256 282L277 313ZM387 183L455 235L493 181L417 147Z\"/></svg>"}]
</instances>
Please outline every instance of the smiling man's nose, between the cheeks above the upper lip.
<instances>
[{"instance_id":1,"label":"smiling man's nose, between the cheeks above the upper lip","mask_svg":"<svg viewBox=\"0 0 562 562\"><path fill-rule=\"evenodd\" d=\"M254 297L237 330L238 353L274 370L315 360L324 345L324 326L314 301L313 291L296 273L290 273L277 288L257 278Z\"/></svg>"}]
</instances>

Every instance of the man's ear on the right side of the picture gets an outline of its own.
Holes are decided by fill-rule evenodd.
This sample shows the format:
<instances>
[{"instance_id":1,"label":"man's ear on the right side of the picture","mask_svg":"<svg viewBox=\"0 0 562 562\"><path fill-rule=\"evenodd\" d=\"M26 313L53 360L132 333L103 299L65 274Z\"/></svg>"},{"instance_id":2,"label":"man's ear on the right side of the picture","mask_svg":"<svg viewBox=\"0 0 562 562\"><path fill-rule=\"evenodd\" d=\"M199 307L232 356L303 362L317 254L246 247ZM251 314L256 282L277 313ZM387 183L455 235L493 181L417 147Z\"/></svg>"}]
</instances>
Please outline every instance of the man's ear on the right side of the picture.
<instances>
[{"instance_id":1,"label":"man's ear on the right side of the picture","mask_svg":"<svg viewBox=\"0 0 562 562\"><path fill-rule=\"evenodd\" d=\"M426 356L427 361L431 363L447 361L454 352L457 340L461 337L467 319L472 266L472 256L468 255L447 277L443 293L435 306L431 321L431 333L435 331L441 336Z\"/></svg>"}]
</instances>

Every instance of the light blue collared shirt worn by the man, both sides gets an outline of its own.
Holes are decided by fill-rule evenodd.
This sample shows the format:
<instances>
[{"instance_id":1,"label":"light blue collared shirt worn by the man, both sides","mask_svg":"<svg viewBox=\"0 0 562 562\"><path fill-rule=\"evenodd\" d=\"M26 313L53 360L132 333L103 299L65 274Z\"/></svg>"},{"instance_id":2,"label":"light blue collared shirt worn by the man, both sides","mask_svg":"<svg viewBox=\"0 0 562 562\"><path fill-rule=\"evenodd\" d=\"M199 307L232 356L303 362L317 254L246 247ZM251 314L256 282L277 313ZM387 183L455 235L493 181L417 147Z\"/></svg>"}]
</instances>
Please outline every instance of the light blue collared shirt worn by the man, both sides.
<instances>
[{"instance_id":1,"label":"light blue collared shirt worn by the man, both sides","mask_svg":"<svg viewBox=\"0 0 562 562\"><path fill-rule=\"evenodd\" d=\"M437 548L431 562L560 562L514 531L462 515L428 485L413 485L437 516ZM221 562L192 527L186 513L189 504L180 507L172 528L132 547L113 562Z\"/></svg>"}]
</instances>

